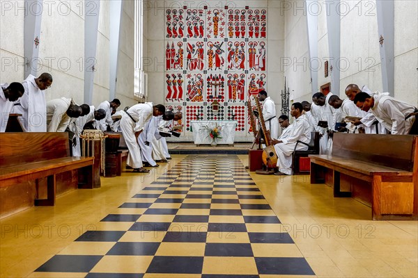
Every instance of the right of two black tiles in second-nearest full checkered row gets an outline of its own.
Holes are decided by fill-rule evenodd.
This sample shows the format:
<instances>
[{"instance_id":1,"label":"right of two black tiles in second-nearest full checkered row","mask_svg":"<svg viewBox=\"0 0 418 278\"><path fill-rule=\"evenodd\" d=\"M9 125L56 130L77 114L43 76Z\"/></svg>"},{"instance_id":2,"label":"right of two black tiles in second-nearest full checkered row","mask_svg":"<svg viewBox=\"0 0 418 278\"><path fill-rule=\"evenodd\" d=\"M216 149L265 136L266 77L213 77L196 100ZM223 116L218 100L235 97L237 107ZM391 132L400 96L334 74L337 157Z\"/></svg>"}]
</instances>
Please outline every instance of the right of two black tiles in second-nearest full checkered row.
<instances>
[{"instance_id":1,"label":"right of two black tiles in second-nearest full checkered row","mask_svg":"<svg viewBox=\"0 0 418 278\"><path fill-rule=\"evenodd\" d=\"M253 256L249 243L206 243L205 256Z\"/></svg>"}]
</instances>

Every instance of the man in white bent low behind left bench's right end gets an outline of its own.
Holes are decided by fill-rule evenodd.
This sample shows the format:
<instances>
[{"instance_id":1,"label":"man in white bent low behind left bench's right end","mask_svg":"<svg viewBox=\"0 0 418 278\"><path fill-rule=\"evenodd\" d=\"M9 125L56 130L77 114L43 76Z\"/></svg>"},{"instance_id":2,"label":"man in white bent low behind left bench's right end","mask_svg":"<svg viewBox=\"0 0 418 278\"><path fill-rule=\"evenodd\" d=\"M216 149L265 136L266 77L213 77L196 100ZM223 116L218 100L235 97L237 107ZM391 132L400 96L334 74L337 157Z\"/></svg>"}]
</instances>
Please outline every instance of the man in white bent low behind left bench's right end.
<instances>
[{"instance_id":1,"label":"man in white bent low behind left bench's right end","mask_svg":"<svg viewBox=\"0 0 418 278\"><path fill-rule=\"evenodd\" d=\"M47 102L47 131L64 132L70 124L71 118L77 118L82 115L80 106L75 104L72 99L61 97L61 99L52 99Z\"/></svg>"}]
</instances>

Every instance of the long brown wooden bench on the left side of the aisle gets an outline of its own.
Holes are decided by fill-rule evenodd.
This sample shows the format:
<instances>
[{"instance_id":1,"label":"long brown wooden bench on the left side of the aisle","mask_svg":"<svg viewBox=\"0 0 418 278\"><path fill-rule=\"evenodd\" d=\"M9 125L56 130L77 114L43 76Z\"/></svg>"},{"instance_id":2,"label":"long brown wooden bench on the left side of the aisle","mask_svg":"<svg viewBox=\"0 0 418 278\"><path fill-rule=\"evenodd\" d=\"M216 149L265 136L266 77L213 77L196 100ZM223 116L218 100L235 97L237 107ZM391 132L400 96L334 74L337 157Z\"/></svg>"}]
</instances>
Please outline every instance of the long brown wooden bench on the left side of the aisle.
<instances>
[{"instance_id":1,"label":"long brown wooden bench on the left side of the aisle","mask_svg":"<svg viewBox=\"0 0 418 278\"><path fill-rule=\"evenodd\" d=\"M3 200L17 197L8 195L10 192L19 194L15 187L20 186L22 193L27 190L28 183L33 186L35 181L35 196L29 196L33 197L34 205L54 206L59 174L79 169L83 170L79 174L84 177L84 183L79 183L78 175L71 174L61 178L60 182L75 183L79 188L93 188L93 158L70 156L67 133L0 133L0 146L0 197ZM46 199L40 197L45 179ZM65 191L65 184L62 187L60 190ZM20 197L24 199L24 195ZM5 213L3 208L6 211L12 209L10 204L0 208L1 215Z\"/></svg>"}]
</instances>

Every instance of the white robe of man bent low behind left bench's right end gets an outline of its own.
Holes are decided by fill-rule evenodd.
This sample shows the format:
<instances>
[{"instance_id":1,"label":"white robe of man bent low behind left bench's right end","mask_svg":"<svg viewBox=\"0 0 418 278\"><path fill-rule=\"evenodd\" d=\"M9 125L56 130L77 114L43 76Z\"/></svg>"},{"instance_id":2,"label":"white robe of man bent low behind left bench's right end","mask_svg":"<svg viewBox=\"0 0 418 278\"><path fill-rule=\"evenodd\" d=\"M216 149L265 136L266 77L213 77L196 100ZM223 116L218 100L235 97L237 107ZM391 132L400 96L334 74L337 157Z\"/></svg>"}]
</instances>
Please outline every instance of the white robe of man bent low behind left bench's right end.
<instances>
[{"instance_id":1,"label":"white robe of man bent low behind left bench's right end","mask_svg":"<svg viewBox=\"0 0 418 278\"><path fill-rule=\"evenodd\" d=\"M47 102L48 132L64 132L70 124L71 117L67 115L68 107L74 104L72 99L61 97Z\"/></svg>"}]
</instances>

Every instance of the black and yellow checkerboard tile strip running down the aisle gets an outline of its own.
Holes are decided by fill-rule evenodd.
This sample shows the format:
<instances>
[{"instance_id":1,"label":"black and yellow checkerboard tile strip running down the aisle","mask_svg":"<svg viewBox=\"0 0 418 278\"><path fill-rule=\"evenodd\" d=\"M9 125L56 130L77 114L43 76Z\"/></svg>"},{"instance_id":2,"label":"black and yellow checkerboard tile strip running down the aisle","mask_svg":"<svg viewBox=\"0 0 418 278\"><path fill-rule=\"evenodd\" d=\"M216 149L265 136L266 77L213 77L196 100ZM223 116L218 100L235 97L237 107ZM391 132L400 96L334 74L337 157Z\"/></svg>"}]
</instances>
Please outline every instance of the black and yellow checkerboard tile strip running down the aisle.
<instances>
[{"instance_id":1,"label":"black and yellow checkerboard tile strip running down the aisle","mask_svg":"<svg viewBox=\"0 0 418 278\"><path fill-rule=\"evenodd\" d=\"M33 277L315 275L237 156L187 156Z\"/></svg>"}]
</instances>

